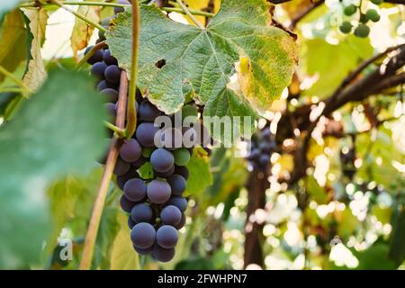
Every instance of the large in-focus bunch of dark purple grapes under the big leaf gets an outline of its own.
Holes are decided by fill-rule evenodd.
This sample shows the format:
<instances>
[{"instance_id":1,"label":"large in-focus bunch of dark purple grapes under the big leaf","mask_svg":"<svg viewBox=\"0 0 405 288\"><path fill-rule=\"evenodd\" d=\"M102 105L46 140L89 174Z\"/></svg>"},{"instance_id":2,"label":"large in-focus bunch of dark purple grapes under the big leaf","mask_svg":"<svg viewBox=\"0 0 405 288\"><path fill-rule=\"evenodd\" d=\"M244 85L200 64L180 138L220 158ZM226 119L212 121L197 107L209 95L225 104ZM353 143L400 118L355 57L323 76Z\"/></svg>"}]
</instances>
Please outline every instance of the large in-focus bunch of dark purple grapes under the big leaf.
<instances>
[{"instance_id":1,"label":"large in-focus bunch of dark purple grapes under the big leaf","mask_svg":"<svg viewBox=\"0 0 405 288\"><path fill-rule=\"evenodd\" d=\"M128 1L120 3L129 4ZM116 14L121 12L123 9L115 10ZM98 42L103 40L103 35L100 37ZM86 52L90 49L92 47ZM97 90L105 96L106 109L115 116L121 76L117 59L105 48L97 50L87 62L92 65L91 74L98 80ZM116 183L123 191L121 209L129 213L130 238L139 255L151 254L157 261L167 262L175 256L177 230L185 224L187 200L183 193L189 175L186 165L193 147L197 143L204 147L203 139L211 138L206 136L193 103L184 105L181 113L165 115L138 91L135 105L137 130L131 139L121 142L120 156L114 167ZM192 116L193 124L173 125L176 120L182 122L184 116ZM166 117L171 126L157 127L157 117ZM149 168L148 176L139 172L143 167Z\"/></svg>"}]
</instances>

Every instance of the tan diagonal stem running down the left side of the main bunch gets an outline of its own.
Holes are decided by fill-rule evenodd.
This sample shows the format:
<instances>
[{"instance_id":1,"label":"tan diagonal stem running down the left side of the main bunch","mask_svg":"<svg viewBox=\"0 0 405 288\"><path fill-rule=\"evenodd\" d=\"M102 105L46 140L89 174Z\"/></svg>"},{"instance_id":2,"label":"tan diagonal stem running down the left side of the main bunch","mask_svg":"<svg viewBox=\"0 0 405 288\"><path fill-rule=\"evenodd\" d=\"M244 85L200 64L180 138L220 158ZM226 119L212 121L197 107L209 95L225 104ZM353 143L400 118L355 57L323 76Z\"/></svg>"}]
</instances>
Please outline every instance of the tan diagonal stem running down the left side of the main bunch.
<instances>
[{"instance_id":1,"label":"tan diagonal stem running down the left side of the main bunch","mask_svg":"<svg viewBox=\"0 0 405 288\"><path fill-rule=\"evenodd\" d=\"M128 92L128 78L125 71L121 71L120 80L120 94L118 98L118 108L117 108L117 121L116 125L118 128L123 129L125 125L125 105L126 97ZM119 139L114 137L112 139L112 145L108 152L107 161L105 163L102 181L98 188L97 196L94 202L94 208L92 212L92 217L87 229L87 234L85 236L85 247L83 249L82 260L80 262L80 270L89 270L91 268L95 239L97 238L98 229L100 227L100 220L102 218L105 199L107 197L108 188L112 179L112 172L117 161L119 154Z\"/></svg>"}]
</instances>

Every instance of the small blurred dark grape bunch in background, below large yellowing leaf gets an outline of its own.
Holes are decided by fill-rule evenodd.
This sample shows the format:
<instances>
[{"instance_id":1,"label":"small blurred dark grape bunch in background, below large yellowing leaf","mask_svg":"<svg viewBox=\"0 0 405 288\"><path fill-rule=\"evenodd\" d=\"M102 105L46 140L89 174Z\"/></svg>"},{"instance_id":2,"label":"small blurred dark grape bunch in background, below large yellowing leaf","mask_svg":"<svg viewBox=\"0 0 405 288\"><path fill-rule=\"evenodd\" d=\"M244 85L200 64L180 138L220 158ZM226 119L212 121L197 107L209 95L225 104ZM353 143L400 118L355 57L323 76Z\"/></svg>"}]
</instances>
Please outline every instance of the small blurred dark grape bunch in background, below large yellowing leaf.
<instances>
[{"instance_id":1,"label":"small blurred dark grape bunch in background, below large yellowing leaf","mask_svg":"<svg viewBox=\"0 0 405 288\"><path fill-rule=\"evenodd\" d=\"M247 160L254 169L266 172L270 166L270 157L275 152L275 137L266 125L262 130L253 134L249 142L249 153Z\"/></svg>"}]
</instances>

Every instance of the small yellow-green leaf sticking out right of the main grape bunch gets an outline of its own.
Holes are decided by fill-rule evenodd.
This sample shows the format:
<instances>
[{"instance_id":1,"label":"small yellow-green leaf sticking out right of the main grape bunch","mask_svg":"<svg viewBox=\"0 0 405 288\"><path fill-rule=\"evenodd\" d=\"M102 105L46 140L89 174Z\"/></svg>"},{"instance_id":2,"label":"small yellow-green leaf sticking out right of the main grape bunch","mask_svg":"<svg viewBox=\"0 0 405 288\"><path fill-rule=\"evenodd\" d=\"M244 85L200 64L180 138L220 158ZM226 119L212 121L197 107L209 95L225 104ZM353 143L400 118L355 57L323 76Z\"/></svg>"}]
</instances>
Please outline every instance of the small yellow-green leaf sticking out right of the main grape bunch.
<instances>
[{"instance_id":1,"label":"small yellow-green leaf sticking out right of the main grape bunch","mask_svg":"<svg viewBox=\"0 0 405 288\"><path fill-rule=\"evenodd\" d=\"M212 175L207 152L202 148L194 148L193 156L187 164L189 178L186 194L202 193L206 186L212 184Z\"/></svg>"}]
</instances>

